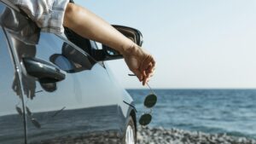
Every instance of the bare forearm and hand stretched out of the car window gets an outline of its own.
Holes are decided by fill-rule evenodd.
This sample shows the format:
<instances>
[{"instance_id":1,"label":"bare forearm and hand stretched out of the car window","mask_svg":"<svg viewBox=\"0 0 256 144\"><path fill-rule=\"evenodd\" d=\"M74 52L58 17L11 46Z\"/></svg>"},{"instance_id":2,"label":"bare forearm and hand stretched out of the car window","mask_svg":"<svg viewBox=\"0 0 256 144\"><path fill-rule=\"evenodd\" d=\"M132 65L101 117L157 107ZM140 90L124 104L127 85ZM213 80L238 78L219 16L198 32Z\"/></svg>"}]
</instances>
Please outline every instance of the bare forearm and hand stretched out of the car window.
<instances>
[{"instance_id":1,"label":"bare forearm and hand stretched out of the car window","mask_svg":"<svg viewBox=\"0 0 256 144\"><path fill-rule=\"evenodd\" d=\"M137 75L143 85L153 76L155 67L153 56L89 10L74 3L68 3L63 25L82 37L118 50L124 56L131 72Z\"/></svg>"}]
</instances>

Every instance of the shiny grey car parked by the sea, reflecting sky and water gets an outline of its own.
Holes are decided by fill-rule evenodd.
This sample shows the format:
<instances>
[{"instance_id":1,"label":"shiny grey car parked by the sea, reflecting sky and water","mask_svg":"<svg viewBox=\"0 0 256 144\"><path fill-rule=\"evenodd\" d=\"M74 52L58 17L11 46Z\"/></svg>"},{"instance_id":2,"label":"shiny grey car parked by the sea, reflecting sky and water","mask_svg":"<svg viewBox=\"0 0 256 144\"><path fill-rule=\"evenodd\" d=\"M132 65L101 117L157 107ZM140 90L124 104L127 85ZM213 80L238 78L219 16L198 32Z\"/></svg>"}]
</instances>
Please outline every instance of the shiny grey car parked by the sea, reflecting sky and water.
<instances>
[{"instance_id":1,"label":"shiny grey car parked by the sea, reflecting sky and water","mask_svg":"<svg viewBox=\"0 0 256 144\"><path fill-rule=\"evenodd\" d=\"M141 32L114 26L141 45ZM134 101L106 64L117 51L79 37L41 32L0 1L0 143L123 143L137 139Z\"/></svg>"}]
</instances>

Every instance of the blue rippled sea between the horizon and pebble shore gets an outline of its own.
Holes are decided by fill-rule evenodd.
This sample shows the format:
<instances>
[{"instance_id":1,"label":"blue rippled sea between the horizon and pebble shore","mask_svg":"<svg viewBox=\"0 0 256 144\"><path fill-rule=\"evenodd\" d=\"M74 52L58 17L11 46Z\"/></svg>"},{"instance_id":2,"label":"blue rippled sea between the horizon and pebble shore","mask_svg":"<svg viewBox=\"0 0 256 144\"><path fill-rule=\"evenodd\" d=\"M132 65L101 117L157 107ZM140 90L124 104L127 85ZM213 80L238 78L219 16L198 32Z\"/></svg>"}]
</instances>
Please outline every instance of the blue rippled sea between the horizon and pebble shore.
<instances>
[{"instance_id":1,"label":"blue rippled sea between the horizon and pebble shore","mask_svg":"<svg viewBox=\"0 0 256 144\"><path fill-rule=\"evenodd\" d=\"M137 118L148 89L128 89ZM256 139L256 89L154 89L158 95L149 127L226 133Z\"/></svg>"}]
</instances>

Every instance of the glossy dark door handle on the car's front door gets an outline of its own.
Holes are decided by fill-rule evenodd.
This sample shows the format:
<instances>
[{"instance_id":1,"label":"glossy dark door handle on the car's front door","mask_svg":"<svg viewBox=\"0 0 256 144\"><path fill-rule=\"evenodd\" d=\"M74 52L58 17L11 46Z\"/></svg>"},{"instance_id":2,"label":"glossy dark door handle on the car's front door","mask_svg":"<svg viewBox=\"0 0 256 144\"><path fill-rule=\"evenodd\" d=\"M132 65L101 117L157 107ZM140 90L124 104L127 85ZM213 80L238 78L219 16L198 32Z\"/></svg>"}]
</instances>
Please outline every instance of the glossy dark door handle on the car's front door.
<instances>
[{"instance_id":1,"label":"glossy dark door handle on the car's front door","mask_svg":"<svg viewBox=\"0 0 256 144\"><path fill-rule=\"evenodd\" d=\"M37 58L23 58L26 72L39 80L48 80L50 82L59 82L65 79L65 74L53 64Z\"/></svg>"}]
</instances>

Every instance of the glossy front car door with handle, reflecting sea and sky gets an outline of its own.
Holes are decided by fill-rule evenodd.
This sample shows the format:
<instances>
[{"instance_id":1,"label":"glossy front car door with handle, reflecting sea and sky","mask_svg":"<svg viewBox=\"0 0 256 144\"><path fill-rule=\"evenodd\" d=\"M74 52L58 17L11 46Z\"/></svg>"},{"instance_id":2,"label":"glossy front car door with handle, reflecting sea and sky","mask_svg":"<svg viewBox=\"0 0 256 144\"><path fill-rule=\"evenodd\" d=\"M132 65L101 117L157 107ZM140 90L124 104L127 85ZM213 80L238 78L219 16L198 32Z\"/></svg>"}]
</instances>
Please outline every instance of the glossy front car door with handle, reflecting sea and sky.
<instances>
[{"instance_id":1,"label":"glossy front car door with handle, reflecting sea and sky","mask_svg":"<svg viewBox=\"0 0 256 144\"><path fill-rule=\"evenodd\" d=\"M26 95L27 143L119 143L122 100L102 63L22 14L9 15L18 23L6 32Z\"/></svg>"}]
</instances>

